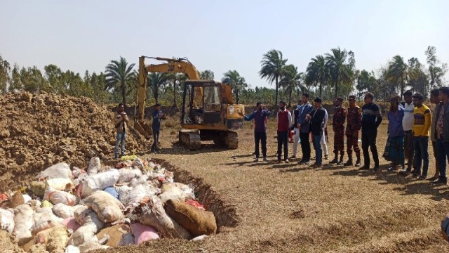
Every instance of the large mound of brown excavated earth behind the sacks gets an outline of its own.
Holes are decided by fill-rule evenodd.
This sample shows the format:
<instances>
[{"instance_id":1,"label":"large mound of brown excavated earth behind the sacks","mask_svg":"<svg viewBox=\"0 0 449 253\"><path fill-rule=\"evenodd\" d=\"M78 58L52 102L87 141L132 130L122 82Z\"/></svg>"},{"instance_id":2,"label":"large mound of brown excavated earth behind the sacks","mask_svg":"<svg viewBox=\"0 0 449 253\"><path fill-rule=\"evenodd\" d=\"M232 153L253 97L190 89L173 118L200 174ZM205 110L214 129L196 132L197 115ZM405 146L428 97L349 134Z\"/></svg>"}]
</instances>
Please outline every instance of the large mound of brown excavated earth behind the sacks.
<instances>
[{"instance_id":1,"label":"large mound of brown excavated earth behind the sacks","mask_svg":"<svg viewBox=\"0 0 449 253\"><path fill-rule=\"evenodd\" d=\"M58 162L85 167L91 157L114 155L114 113L88 98L8 93L0 107L0 192ZM129 153L145 150L134 129L127 134Z\"/></svg>"}]
</instances>

